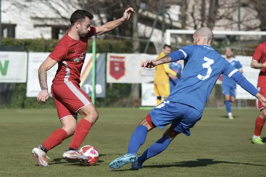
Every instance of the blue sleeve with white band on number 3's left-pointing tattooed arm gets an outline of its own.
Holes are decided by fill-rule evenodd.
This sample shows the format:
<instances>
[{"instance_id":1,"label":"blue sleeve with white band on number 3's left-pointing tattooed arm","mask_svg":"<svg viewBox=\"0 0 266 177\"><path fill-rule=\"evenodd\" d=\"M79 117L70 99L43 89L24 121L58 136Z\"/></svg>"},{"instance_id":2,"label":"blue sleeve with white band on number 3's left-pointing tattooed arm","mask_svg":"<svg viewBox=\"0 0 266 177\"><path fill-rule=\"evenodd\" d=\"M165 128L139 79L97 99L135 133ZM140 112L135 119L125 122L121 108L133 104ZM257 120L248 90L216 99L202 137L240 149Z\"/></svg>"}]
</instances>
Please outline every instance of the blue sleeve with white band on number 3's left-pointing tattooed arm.
<instances>
[{"instance_id":1,"label":"blue sleeve with white band on number 3's left-pointing tattooed arm","mask_svg":"<svg viewBox=\"0 0 266 177\"><path fill-rule=\"evenodd\" d=\"M173 53L168 54L172 61L178 61L178 60L184 60L186 58L189 58L190 55L192 55L193 47L192 45L187 45L185 47L182 47L179 50L174 51Z\"/></svg>"}]
</instances>

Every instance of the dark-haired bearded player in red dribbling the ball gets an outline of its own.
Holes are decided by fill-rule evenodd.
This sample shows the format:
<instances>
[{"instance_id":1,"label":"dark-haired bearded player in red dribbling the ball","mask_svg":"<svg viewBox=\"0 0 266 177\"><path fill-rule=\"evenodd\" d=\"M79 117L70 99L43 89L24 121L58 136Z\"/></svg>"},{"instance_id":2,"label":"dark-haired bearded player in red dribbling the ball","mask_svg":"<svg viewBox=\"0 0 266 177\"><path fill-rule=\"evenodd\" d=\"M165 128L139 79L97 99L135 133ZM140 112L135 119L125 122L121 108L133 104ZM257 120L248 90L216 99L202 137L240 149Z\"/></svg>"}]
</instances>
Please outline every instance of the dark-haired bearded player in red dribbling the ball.
<instances>
[{"instance_id":1,"label":"dark-haired bearded player in red dribbling the ball","mask_svg":"<svg viewBox=\"0 0 266 177\"><path fill-rule=\"evenodd\" d=\"M80 72L87 51L88 37L102 35L126 22L133 8L128 8L120 19L107 22L99 27L91 27L93 14L85 10L76 10L70 17L71 29L62 37L52 53L40 65L38 70L41 91L37 100L45 102L48 97L47 71L58 63L51 94L56 103L62 128L54 131L41 145L32 150L40 166L48 166L46 153L61 144L72 135L72 141L63 157L66 160L88 160L78 151L88 134L90 127L98 119L98 112L87 94L80 89ZM77 113L83 117L77 124Z\"/></svg>"}]
</instances>

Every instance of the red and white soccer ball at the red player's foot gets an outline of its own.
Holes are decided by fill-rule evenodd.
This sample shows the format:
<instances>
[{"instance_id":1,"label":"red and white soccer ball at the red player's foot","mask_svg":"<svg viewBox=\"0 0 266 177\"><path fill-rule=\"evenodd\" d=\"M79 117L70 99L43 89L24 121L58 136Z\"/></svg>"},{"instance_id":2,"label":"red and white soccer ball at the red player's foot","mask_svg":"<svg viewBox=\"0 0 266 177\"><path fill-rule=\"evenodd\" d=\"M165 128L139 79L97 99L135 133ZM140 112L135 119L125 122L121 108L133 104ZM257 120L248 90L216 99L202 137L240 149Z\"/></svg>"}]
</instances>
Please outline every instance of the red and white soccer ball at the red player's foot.
<instances>
[{"instance_id":1,"label":"red and white soccer ball at the red player's foot","mask_svg":"<svg viewBox=\"0 0 266 177\"><path fill-rule=\"evenodd\" d=\"M89 160L81 161L82 165L95 165L99 160L99 153L96 148L90 145L86 145L80 148L81 155L85 155Z\"/></svg>"}]
</instances>

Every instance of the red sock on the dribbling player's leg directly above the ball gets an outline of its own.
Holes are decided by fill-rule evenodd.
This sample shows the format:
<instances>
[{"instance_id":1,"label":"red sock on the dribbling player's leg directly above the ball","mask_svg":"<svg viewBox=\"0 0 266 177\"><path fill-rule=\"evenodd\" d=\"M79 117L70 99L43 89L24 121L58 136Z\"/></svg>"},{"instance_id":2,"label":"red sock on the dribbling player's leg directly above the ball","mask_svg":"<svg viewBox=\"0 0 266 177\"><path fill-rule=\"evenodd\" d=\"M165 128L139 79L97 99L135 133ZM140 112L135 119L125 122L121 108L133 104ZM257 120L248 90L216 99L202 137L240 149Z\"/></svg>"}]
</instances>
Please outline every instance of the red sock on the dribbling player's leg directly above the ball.
<instances>
[{"instance_id":1,"label":"red sock on the dribbling player's leg directly above the ball","mask_svg":"<svg viewBox=\"0 0 266 177\"><path fill-rule=\"evenodd\" d=\"M76 131L69 145L69 148L78 149L85 137L87 136L92 123L86 119L81 119L77 124Z\"/></svg>"}]
</instances>

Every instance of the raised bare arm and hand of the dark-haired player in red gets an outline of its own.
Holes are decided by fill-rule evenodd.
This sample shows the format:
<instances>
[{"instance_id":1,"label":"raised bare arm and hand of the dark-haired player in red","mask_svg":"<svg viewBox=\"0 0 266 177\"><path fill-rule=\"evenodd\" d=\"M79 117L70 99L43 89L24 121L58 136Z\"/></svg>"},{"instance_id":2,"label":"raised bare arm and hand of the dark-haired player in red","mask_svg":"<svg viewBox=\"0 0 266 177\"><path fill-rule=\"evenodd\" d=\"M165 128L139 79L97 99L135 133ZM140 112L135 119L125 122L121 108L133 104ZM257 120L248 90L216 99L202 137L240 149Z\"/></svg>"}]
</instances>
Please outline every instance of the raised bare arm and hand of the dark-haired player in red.
<instances>
[{"instance_id":1,"label":"raised bare arm and hand of the dark-haired player in red","mask_svg":"<svg viewBox=\"0 0 266 177\"><path fill-rule=\"evenodd\" d=\"M132 7L129 7L128 9L126 9L123 17L121 17L120 19L116 19L114 21L107 22L106 24L104 24L102 26L95 27L96 28L95 35L102 35L106 32L109 32L109 31L117 28L119 25L126 22L130 18L130 15L132 12L135 12L134 9Z\"/></svg>"}]
</instances>

